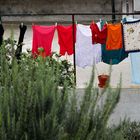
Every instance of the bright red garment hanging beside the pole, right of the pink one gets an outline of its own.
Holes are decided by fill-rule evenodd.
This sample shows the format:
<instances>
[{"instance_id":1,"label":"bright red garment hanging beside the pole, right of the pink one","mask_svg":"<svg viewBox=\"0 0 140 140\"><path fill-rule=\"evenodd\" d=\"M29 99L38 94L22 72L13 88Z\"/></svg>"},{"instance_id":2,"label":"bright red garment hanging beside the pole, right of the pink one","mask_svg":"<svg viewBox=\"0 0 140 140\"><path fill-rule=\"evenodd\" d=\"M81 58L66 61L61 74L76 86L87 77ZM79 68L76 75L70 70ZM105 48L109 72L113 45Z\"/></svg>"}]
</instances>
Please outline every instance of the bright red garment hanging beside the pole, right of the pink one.
<instances>
[{"instance_id":1,"label":"bright red garment hanging beside the pole, right of the pink one","mask_svg":"<svg viewBox=\"0 0 140 140\"><path fill-rule=\"evenodd\" d=\"M58 43L60 45L60 55L73 54L73 26L57 26L58 31ZM74 26L74 38L76 38L76 25ZM74 43L75 43L74 39Z\"/></svg>"}]
</instances>

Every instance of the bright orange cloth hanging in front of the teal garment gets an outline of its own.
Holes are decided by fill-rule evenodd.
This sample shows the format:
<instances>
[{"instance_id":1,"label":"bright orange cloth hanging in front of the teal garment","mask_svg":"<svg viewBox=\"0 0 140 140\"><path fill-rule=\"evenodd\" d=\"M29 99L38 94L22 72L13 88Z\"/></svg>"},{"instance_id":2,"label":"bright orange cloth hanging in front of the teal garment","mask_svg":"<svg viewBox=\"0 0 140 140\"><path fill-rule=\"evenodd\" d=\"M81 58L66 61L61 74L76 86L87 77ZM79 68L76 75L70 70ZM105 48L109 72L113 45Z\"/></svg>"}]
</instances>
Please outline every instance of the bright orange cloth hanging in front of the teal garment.
<instances>
[{"instance_id":1,"label":"bright orange cloth hanging in front of the teal garment","mask_svg":"<svg viewBox=\"0 0 140 140\"><path fill-rule=\"evenodd\" d=\"M107 24L106 49L118 50L122 47L122 24Z\"/></svg>"}]
</instances>

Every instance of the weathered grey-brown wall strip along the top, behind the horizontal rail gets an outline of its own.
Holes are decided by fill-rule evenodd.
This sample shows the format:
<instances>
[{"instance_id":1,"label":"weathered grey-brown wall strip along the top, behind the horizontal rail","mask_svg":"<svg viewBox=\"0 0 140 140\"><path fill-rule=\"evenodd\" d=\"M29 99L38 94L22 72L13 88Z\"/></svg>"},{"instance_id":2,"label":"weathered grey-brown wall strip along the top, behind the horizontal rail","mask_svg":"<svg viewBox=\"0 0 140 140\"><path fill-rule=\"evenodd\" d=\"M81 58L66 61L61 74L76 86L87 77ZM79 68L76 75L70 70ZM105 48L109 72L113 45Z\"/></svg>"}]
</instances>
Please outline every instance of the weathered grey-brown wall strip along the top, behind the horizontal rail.
<instances>
[{"instance_id":1,"label":"weathered grey-brown wall strip along the top, behind the horizontal rail","mask_svg":"<svg viewBox=\"0 0 140 140\"><path fill-rule=\"evenodd\" d=\"M115 0L116 11L121 12L122 0ZM111 12L111 0L0 0L0 13L69 13L69 12ZM79 16L77 20L88 20L90 16ZM93 16L91 16L93 17ZM97 17L97 16L96 16ZM99 17L99 16L98 16ZM101 16L100 16L101 17ZM66 16L54 18L21 18L26 21L71 20ZM5 20L14 20L6 18Z\"/></svg>"}]
</instances>

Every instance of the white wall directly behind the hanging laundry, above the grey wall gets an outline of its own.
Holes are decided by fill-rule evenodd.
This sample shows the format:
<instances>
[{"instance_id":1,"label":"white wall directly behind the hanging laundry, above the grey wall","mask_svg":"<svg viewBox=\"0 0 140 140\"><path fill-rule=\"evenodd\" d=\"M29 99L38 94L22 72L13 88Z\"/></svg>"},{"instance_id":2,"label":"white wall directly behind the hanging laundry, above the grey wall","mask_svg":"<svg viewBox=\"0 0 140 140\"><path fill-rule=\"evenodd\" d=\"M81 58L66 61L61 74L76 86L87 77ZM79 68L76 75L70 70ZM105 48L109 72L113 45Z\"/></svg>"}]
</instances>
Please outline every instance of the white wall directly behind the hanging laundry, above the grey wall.
<instances>
[{"instance_id":1,"label":"white wall directly behind the hanging laundry, above the grey wall","mask_svg":"<svg viewBox=\"0 0 140 140\"><path fill-rule=\"evenodd\" d=\"M5 34L4 38L6 39L7 37L10 36L10 25L5 25ZM18 40L19 37L19 29L18 25L13 26L14 29L14 37L16 40ZM27 32L25 34L25 39L24 39L25 45L23 46L23 51L26 51L27 48L32 48L32 29L31 26L28 26ZM59 45L58 45L58 40L57 40L57 33L55 33L55 37L53 40L53 51L56 51L59 53ZM70 60L73 63L73 56L67 56L65 59ZM109 65L105 63L99 63L96 65L98 73L99 74L108 74L109 73ZM87 83L90 79L91 76L91 67L87 67L85 69L82 69L80 67L76 68L77 72L77 86L78 87L84 87L85 83ZM95 71L96 72L96 71ZM113 87L116 87L117 84L119 83L120 80L120 75L122 74L122 87L123 88L137 88L138 86L133 85L131 83L131 64L130 64L130 59L127 58L124 61L122 61L118 65L112 66L112 77L111 77L111 85ZM98 79L97 79L97 72L95 74L95 83L98 85Z\"/></svg>"}]
</instances>

